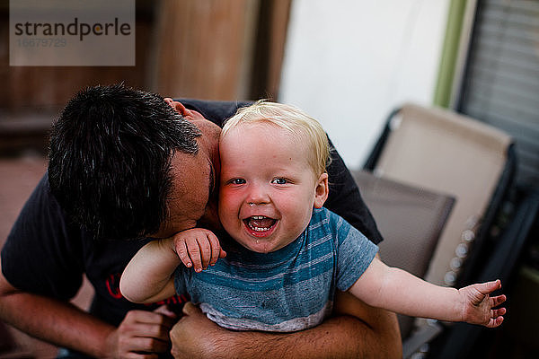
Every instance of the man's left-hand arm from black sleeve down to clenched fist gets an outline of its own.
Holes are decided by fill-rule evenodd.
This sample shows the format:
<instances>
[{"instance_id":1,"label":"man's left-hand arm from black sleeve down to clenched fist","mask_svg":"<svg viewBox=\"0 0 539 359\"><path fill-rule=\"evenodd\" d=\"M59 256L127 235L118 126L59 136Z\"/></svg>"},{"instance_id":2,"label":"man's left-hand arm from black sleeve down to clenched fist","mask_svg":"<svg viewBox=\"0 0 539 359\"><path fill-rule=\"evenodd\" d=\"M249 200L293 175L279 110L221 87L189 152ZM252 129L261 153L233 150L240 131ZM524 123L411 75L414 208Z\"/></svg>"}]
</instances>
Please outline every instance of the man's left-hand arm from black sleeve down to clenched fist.
<instances>
[{"instance_id":1,"label":"man's left-hand arm from black sleeve down to clenched fist","mask_svg":"<svg viewBox=\"0 0 539 359\"><path fill-rule=\"evenodd\" d=\"M168 350L170 313L129 311L118 328L68 302L81 283L81 238L49 195L47 175L22 209L0 259L0 320L96 357ZM42 293L38 295L37 293ZM164 315L163 315L164 314Z\"/></svg>"}]
</instances>

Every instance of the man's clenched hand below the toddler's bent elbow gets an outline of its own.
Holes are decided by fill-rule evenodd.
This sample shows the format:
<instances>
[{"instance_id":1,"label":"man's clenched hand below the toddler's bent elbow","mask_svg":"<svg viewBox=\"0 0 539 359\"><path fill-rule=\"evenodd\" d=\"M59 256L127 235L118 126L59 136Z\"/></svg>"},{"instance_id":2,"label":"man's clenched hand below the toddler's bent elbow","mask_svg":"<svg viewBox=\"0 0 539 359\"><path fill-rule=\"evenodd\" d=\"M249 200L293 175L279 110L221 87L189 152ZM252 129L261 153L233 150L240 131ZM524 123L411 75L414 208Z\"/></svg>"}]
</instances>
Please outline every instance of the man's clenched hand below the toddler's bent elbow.
<instances>
[{"instance_id":1,"label":"man's clenched hand below the toddler's bent elbow","mask_svg":"<svg viewBox=\"0 0 539 359\"><path fill-rule=\"evenodd\" d=\"M128 311L107 338L110 358L157 358L170 349L169 331L176 315L166 306L155 311Z\"/></svg>"}]
</instances>

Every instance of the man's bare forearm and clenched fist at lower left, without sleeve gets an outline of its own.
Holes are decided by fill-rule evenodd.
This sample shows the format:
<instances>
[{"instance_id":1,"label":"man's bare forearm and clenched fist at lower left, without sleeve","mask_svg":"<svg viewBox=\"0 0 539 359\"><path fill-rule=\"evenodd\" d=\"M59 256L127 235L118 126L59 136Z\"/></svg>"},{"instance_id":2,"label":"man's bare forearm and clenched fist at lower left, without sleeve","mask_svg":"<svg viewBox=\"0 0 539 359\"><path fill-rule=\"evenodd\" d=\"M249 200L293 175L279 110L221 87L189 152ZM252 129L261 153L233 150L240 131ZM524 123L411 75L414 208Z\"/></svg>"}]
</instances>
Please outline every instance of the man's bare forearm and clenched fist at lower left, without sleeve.
<instances>
[{"instance_id":1,"label":"man's bare forearm and clenched fist at lower left, without sleeve","mask_svg":"<svg viewBox=\"0 0 539 359\"><path fill-rule=\"evenodd\" d=\"M13 288L0 273L0 319L32 337L98 358L121 358L136 351L164 353L172 313L129 311L114 328L69 302Z\"/></svg>"}]
</instances>

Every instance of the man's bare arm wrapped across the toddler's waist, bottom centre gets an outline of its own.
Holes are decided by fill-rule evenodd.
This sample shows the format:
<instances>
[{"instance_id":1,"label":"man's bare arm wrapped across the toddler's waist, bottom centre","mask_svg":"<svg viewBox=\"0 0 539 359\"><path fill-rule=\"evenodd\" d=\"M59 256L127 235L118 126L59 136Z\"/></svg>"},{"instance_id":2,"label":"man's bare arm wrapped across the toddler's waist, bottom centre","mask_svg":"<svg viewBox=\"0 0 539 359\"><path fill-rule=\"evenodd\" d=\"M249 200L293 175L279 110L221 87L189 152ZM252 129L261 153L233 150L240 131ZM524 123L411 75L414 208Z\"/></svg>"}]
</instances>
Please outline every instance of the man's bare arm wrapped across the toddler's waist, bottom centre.
<instances>
[{"instance_id":1,"label":"man's bare arm wrapped across the toddler's waist, bottom centre","mask_svg":"<svg viewBox=\"0 0 539 359\"><path fill-rule=\"evenodd\" d=\"M315 328L287 334L229 331L190 303L171 331L175 358L400 358L396 316L339 293L337 316ZM358 319L361 318L361 319Z\"/></svg>"}]
</instances>

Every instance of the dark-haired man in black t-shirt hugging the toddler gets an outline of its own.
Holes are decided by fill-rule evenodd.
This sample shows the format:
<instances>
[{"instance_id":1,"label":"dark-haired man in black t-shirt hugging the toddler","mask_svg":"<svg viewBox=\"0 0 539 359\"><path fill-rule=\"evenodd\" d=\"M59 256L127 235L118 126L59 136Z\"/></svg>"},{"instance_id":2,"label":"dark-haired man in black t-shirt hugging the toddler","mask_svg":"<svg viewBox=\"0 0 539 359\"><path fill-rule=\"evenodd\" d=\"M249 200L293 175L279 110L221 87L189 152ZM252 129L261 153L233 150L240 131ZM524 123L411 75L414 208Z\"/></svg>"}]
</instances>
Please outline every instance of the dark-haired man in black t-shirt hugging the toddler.
<instances>
[{"instance_id":1,"label":"dark-haired man in black t-shirt hugging the toddler","mask_svg":"<svg viewBox=\"0 0 539 359\"><path fill-rule=\"evenodd\" d=\"M400 355L394 315L345 294L334 318L289 335L216 328L190 304L174 325L171 304L186 298L145 307L119 294L119 275L151 238L194 226L219 229L216 123L241 105L163 101L122 85L75 95L53 127L49 172L2 250L0 318L95 357L166 353L171 328L177 357ZM329 173L333 186L327 206L379 241L376 224L338 155ZM91 314L67 304L83 274L95 288Z\"/></svg>"}]
</instances>

